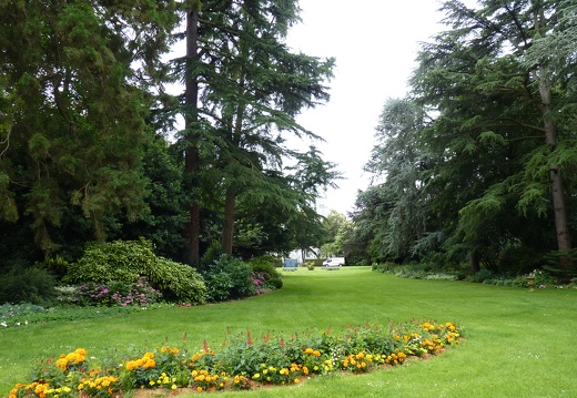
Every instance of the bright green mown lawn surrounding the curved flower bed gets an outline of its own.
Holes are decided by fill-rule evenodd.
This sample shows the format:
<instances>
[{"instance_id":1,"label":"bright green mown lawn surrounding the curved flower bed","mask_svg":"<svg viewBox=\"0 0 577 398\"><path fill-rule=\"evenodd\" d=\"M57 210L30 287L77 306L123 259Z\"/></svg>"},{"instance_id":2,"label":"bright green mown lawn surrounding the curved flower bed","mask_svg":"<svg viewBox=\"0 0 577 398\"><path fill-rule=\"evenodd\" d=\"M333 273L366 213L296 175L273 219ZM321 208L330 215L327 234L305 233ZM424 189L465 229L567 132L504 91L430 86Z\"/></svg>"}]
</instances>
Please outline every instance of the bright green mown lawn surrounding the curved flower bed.
<instances>
[{"instance_id":1,"label":"bright green mown lawn surrounding the curved flower bed","mask_svg":"<svg viewBox=\"0 0 577 398\"><path fill-rule=\"evenodd\" d=\"M246 300L168 308L0 330L0 395L29 381L34 358L78 347L89 356L110 348L155 347L186 339L217 348L226 330L343 329L366 322L413 318L455 322L467 339L431 360L367 375L316 377L298 386L220 396L251 397L569 397L577 382L576 289L526 289L460 282L414 280L368 267L284 273L281 290Z\"/></svg>"}]
</instances>

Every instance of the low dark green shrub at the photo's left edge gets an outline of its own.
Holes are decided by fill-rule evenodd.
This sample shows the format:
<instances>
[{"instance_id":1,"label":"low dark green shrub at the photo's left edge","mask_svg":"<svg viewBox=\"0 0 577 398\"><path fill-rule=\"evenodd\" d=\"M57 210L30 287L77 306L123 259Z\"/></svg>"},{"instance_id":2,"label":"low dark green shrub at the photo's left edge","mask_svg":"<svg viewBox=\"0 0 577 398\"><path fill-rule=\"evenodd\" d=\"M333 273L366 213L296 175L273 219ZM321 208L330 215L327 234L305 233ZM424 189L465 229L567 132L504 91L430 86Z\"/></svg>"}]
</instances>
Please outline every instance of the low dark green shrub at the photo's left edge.
<instances>
[{"instance_id":1,"label":"low dark green shrub at the photo's left edge","mask_svg":"<svg viewBox=\"0 0 577 398\"><path fill-rule=\"evenodd\" d=\"M0 275L0 303L50 305L57 296L55 277L39 267L16 267Z\"/></svg>"}]
</instances>

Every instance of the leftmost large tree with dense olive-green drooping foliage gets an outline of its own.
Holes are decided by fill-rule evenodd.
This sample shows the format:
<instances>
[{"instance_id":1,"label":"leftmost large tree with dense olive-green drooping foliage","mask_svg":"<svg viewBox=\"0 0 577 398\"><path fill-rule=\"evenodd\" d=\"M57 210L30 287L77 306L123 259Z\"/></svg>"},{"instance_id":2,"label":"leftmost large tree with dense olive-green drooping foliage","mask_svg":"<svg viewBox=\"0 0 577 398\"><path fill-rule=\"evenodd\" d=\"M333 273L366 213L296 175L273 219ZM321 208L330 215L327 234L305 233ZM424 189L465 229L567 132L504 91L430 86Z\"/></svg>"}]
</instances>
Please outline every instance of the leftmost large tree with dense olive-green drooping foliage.
<instances>
[{"instance_id":1,"label":"leftmost large tree with dense olive-green drooping foliage","mask_svg":"<svg viewBox=\"0 0 577 398\"><path fill-rule=\"evenodd\" d=\"M97 238L107 215L146 211L138 165L173 11L171 0L0 3L0 214L43 251L58 247L70 204Z\"/></svg>"}]
</instances>

